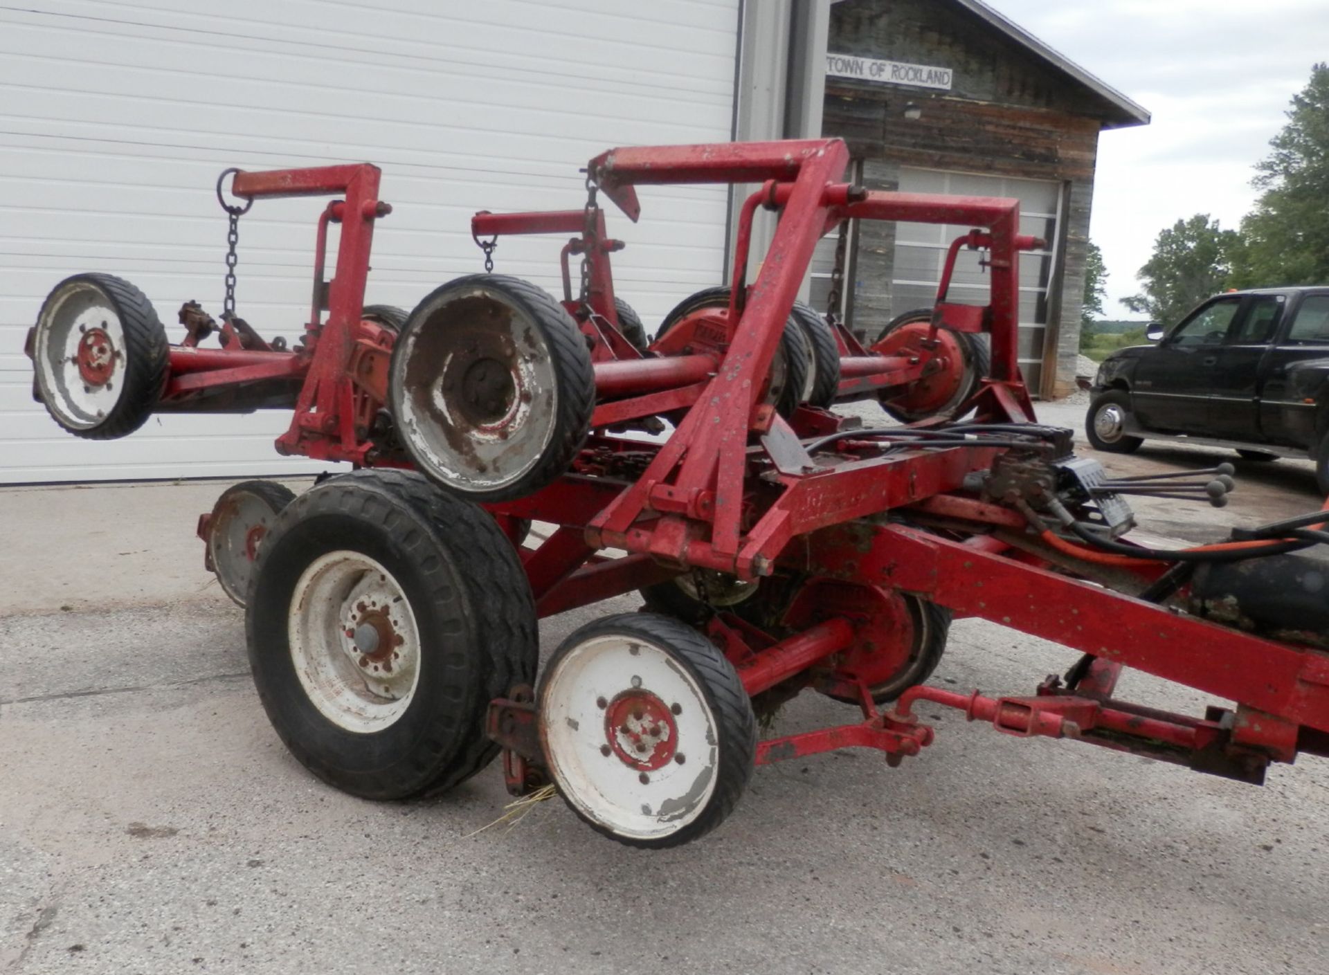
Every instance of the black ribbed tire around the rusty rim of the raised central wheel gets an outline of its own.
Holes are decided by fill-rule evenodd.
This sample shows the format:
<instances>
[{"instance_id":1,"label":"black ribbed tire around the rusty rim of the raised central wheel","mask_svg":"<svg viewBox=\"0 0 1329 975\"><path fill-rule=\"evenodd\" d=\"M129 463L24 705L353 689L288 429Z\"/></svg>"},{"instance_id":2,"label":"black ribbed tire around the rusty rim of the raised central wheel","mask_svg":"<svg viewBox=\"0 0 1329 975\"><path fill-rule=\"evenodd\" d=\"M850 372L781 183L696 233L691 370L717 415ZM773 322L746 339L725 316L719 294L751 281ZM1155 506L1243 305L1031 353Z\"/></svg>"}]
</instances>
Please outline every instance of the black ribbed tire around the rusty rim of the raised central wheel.
<instances>
[{"instance_id":1,"label":"black ribbed tire around the rusty rim of the raised central wheel","mask_svg":"<svg viewBox=\"0 0 1329 975\"><path fill-rule=\"evenodd\" d=\"M556 302L549 292L536 287L521 278L512 278L502 274L473 274L456 278L431 291L416 306L424 307L435 295L455 287L469 284L482 284L488 288L505 291L508 296L518 304L525 306L525 311L541 328L545 344L553 359L554 376L558 384L558 408L554 417L554 433L545 449L544 456L518 481L504 488L457 493L469 501L478 503L493 503L498 501L512 501L528 494L534 494L541 488L562 477L573 458L581 452L586 437L590 434L590 417L595 409L595 372L590 361L590 351L586 348L586 337L577 323L567 313L562 304ZM412 311L411 317L415 317ZM404 355L408 343L397 341L392 351L392 363L388 367L388 376L397 376L397 355ZM389 395L389 404L395 405L396 395ZM412 460L416 460L411 440L401 436L403 445ZM424 466L424 465L419 465ZM456 493L451 485L436 482L445 491Z\"/></svg>"}]
</instances>

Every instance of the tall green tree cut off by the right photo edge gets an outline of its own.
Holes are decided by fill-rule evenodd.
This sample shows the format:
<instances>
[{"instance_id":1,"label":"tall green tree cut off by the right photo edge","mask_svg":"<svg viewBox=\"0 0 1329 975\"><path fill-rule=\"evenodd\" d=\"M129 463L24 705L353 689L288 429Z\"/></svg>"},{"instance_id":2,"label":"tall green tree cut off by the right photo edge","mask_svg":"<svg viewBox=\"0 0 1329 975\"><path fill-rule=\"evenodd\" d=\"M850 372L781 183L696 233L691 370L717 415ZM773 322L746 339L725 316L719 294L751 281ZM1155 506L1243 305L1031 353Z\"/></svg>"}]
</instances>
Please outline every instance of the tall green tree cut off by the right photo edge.
<instances>
[{"instance_id":1,"label":"tall green tree cut off by the right photo edge","mask_svg":"<svg viewBox=\"0 0 1329 975\"><path fill-rule=\"evenodd\" d=\"M1286 116L1256 165L1264 193L1241 221L1236 287L1329 283L1329 65L1314 65Z\"/></svg>"}]
</instances>

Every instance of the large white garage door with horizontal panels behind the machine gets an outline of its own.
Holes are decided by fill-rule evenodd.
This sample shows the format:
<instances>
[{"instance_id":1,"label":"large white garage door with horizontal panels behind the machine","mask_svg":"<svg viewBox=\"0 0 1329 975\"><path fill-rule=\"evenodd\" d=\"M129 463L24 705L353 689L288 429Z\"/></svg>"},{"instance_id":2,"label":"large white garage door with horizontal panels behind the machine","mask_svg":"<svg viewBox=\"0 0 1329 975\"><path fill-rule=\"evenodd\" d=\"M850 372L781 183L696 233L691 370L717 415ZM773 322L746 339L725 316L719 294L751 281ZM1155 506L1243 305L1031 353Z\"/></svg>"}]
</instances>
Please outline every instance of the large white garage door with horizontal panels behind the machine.
<instances>
[{"instance_id":1,"label":"large white garage door with horizontal panels behind the machine","mask_svg":"<svg viewBox=\"0 0 1329 975\"><path fill-rule=\"evenodd\" d=\"M476 210L573 209L579 166L617 145L724 141L738 0L39 0L0 9L0 482L295 473L287 413L162 416L80 441L31 399L23 339L61 278L142 288L182 336L221 312L227 166L369 161L395 211L375 231L368 302L412 307L481 270ZM722 187L647 189L619 294L647 327L720 280ZM238 312L294 339L308 315L323 201L259 201L241 221ZM500 243L496 271L558 287L558 238ZM214 340L215 341L215 340Z\"/></svg>"}]
</instances>

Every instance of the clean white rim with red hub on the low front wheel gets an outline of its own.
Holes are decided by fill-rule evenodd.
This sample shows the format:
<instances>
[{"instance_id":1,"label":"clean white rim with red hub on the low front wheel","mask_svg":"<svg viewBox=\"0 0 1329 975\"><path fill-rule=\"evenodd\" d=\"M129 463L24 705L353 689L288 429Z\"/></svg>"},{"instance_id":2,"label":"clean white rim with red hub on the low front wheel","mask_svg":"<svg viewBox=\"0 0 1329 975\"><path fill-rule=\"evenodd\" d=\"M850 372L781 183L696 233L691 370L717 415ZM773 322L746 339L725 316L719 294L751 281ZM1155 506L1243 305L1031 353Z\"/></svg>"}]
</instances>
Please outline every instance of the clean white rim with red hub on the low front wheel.
<instances>
[{"instance_id":1,"label":"clean white rim with red hub on the low front wheel","mask_svg":"<svg viewBox=\"0 0 1329 975\"><path fill-rule=\"evenodd\" d=\"M651 697L654 711L634 717L630 704ZM609 727L613 715L626 732ZM638 636L594 636L562 655L541 692L540 723L560 790L615 836L671 836L715 792L719 743L706 695L670 654ZM649 749L638 753L642 741Z\"/></svg>"}]
</instances>

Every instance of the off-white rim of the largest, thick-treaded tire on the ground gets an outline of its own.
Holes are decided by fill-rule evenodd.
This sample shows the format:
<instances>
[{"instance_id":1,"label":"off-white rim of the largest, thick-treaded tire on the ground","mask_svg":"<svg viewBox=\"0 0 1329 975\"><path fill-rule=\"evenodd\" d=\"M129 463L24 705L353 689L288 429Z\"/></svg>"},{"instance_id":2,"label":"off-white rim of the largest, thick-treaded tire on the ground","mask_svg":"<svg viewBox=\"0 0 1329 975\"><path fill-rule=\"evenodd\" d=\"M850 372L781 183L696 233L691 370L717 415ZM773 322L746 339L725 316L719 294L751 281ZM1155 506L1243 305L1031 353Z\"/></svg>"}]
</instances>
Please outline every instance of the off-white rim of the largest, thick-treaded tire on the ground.
<instances>
[{"instance_id":1,"label":"off-white rim of the largest, thick-treaded tire on the ground","mask_svg":"<svg viewBox=\"0 0 1329 975\"><path fill-rule=\"evenodd\" d=\"M300 687L344 731L387 728L420 683L420 631L401 586L356 551L331 551L300 575L288 639Z\"/></svg>"}]
</instances>

